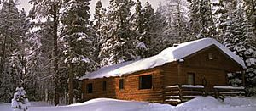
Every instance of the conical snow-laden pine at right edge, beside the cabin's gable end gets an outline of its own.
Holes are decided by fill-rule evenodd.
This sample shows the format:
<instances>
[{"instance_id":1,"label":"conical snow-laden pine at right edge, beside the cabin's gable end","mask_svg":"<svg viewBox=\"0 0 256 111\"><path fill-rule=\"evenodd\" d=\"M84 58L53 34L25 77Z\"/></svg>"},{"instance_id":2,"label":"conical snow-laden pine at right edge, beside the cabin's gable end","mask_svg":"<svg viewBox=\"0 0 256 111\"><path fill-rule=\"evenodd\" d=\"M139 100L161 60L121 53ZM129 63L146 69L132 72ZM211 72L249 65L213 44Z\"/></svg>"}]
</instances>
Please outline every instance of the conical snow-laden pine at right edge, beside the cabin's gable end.
<instances>
[{"instance_id":1,"label":"conical snow-laden pine at right edge, beside the cabin's gable end","mask_svg":"<svg viewBox=\"0 0 256 111\"><path fill-rule=\"evenodd\" d=\"M237 8L232 12L227 21L227 30L224 35L224 46L240 56L246 66L246 86L252 86L255 80L255 47L250 45L249 41L253 38L253 26L248 24L248 20L242 8ZM230 84L232 86L241 86L241 72L230 73Z\"/></svg>"}]
</instances>

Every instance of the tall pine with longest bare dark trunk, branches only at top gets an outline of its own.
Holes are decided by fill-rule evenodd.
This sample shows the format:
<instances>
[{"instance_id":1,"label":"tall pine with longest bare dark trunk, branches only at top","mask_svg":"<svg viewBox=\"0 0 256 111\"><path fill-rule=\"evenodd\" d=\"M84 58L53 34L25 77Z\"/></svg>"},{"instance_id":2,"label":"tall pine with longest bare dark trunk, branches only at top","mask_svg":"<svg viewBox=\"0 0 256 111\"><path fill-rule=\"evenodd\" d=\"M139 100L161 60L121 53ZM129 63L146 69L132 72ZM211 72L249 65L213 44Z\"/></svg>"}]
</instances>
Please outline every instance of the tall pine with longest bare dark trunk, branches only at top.
<instances>
[{"instance_id":1,"label":"tall pine with longest bare dark trunk, branches only at top","mask_svg":"<svg viewBox=\"0 0 256 111\"><path fill-rule=\"evenodd\" d=\"M63 3L62 0L31 0L30 1L33 4L32 11L30 13L30 17L33 19L49 19L48 24L52 28L52 37L53 37L53 56L52 56L52 62L54 70L52 74L54 75L54 81L55 81L55 105L59 104L59 98L60 98L60 83L59 83L59 42L58 42L58 30L59 30L59 20L60 20L60 9L61 4ZM50 22L49 22L50 21Z\"/></svg>"}]
</instances>

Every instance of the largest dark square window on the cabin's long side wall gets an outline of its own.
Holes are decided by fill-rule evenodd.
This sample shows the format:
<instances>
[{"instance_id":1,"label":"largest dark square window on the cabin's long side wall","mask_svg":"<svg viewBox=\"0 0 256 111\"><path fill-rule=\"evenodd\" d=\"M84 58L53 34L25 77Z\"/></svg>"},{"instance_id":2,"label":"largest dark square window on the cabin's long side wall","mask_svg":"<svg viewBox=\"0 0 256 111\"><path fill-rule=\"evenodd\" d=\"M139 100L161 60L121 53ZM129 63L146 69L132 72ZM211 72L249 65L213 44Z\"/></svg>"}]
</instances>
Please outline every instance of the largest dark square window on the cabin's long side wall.
<instances>
[{"instance_id":1,"label":"largest dark square window on the cabin's long side wall","mask_svg":"<svg viewBox=\"0 0 256 111\"><path fill-rule=\"evenodd\" d=\"M152 75L139 76L139 89L152 88Z\"/></svg>"}]
</instances>

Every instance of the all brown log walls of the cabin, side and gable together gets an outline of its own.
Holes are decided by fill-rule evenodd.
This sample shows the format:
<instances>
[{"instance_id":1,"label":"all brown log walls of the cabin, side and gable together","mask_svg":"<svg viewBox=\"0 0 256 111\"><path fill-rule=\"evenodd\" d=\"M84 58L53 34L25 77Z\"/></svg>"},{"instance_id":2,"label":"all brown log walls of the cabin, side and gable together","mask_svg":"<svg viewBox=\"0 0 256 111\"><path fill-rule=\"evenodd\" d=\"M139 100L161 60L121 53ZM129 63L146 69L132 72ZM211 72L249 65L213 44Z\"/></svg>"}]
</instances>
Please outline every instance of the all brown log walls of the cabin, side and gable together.
<instances>
[{"instance_id":1,"label":"all brown log walls of the cabin, side and gable together","mask_svg":"<svg viewBox=\"0 0 256 111\"><path fill-rule=\"evenodd\" d=\"M212 53L212 59L208 58L208 53ZM213 90L212 86L227 85L227 72L242 69L241 65L214 46L207 47L183 59L183 62L172 62L153 69L123 75L122 77L83 80L84 101L96 97L110 97L163 103L164 87L187 84L188 73L195 74L195 85L202 85L205 78L207 81L206 91L211 92ZM142 75L152 75L151 89L139 89L139 76ZM120 79L124 79L124 89L119 89ZM107 82L106 91L102 91L102 81ZM86 92L88 83L93 84L93 92L90 94Z\"/></svg>"}]
</instances>

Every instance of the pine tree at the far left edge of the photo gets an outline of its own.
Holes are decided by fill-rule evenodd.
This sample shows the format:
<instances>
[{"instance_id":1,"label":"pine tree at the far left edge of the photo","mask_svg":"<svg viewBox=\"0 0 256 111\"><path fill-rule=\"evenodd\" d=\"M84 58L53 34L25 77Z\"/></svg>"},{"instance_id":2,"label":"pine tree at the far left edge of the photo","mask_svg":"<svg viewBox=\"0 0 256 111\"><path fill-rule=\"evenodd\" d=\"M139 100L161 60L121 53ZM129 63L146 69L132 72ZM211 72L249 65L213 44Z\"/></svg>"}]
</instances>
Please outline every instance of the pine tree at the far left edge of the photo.
<instances>
[{"instance_id":1,"label":"pine tree at the far left edge of the photo","mask_svg":"<svg viewBox=\"0 0 256 111\"><path fill-rule=\"evenodd\" d=\"M19 68L10 63L17 58L21 34L20 13L13 0L3 1L0 19L0 99L8 102L15 86L20 85Z\"/></svg>"}]
</instances>

